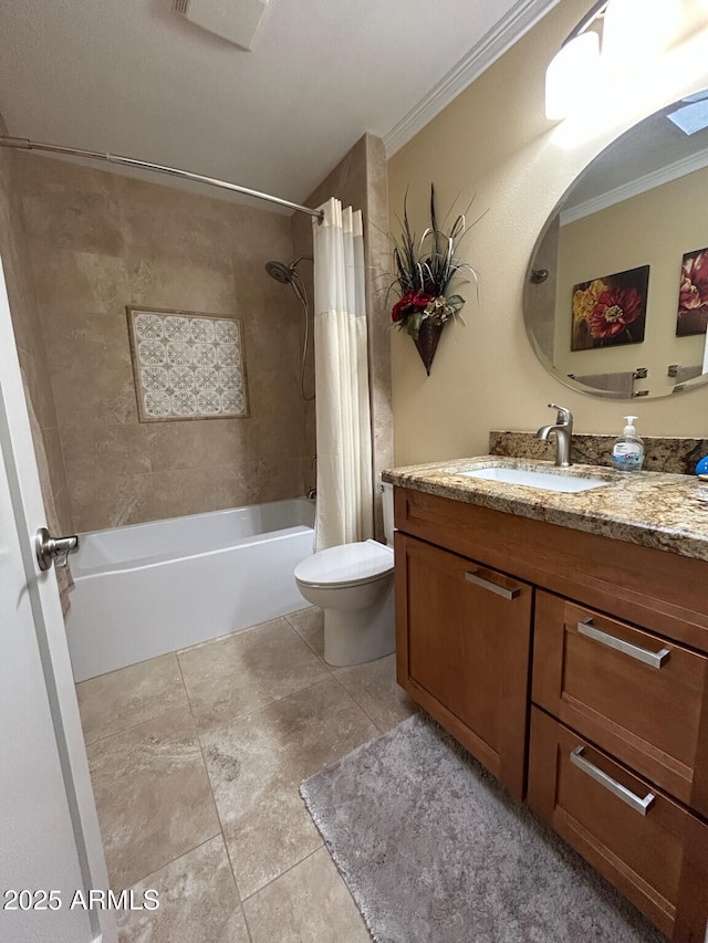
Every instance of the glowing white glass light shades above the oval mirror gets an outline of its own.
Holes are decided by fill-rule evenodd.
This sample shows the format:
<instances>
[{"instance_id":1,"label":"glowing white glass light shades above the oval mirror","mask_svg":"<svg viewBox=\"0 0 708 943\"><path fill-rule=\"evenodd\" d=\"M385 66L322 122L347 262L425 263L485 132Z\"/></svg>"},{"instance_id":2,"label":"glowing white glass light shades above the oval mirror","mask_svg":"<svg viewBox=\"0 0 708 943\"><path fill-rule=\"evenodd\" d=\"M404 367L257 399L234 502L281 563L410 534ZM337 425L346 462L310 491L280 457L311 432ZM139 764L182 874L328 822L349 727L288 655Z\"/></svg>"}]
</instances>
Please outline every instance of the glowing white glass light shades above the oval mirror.
<instances>
[{"instance_id":1,"label":"glowing white glass light shades above the oval mirror","mask_svg":"<svg viewBox=\"0 0 708 943\"><path fill-rule=\"evenodd\" d=\"M708 3L708 0L705 0ZM545 73L545 114L568 117L600 82L602 73L633 67L674 38L681 0L600 0L568 36ZM602 54L597 23L602 20Z\"/></svg>"}]
</instances>

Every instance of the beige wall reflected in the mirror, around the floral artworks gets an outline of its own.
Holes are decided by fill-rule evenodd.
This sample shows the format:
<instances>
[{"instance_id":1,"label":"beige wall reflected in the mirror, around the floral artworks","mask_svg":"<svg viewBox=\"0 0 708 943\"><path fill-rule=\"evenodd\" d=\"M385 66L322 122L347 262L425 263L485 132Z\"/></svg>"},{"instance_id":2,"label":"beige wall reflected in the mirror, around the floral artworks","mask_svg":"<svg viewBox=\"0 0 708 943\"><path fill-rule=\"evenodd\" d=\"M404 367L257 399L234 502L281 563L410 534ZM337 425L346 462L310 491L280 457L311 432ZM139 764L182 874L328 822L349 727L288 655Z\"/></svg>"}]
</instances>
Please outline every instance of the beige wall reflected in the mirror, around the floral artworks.
<instances>
[{"instance_id":1,"label":"beige wall reflected in the mirror, around the floral artworks","mask_svg":"<svg viewBox=\"0 0 708 943\"><path fill-rule=\"evenodd\" d=\"M708 217L696 212L707 190L708 169L696 170L561 227L553 363L562 376L647 367L636 388L667 395L669 364L702 364L705 335L677 337L676 314L684 253L708 245ZM644 342L571 352L573 286L639 265L649 265Z\"/></svg>"}]
</instances>

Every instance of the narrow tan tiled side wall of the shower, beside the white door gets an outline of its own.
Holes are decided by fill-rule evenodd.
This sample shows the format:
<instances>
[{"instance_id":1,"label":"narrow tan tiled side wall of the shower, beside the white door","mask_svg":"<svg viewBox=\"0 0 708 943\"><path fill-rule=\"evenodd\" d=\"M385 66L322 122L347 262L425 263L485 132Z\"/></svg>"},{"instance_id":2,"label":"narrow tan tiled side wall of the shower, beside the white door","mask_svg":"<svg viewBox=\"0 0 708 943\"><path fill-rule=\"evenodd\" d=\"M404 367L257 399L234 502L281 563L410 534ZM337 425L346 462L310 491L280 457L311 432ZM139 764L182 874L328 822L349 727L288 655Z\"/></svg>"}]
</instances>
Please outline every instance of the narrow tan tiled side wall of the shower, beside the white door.
<instances>
[{"instance_id":1,"label":"narrow tan tiled side wall of the shower, beside the white door","mask_svg":"<svg viewBox=\"0 0 708 943\"><path fill-rule=\"evenodd\" d=\"M7 134L0 117L0 134ZM42 469L42 491L48 510L48 526L73 533L73 520L66 491L66 478L54 397L49 379L44 339L34 277L28 249L24 212L19 186L21 155L0 148L0 255L8 287L10 313L29 406L37 417L35 449ZM37 434L35 429L39 429ZM46 457L44 463L43 453ZM44 478L49 471L49 481Z\"/></svg>"}]
</instances>

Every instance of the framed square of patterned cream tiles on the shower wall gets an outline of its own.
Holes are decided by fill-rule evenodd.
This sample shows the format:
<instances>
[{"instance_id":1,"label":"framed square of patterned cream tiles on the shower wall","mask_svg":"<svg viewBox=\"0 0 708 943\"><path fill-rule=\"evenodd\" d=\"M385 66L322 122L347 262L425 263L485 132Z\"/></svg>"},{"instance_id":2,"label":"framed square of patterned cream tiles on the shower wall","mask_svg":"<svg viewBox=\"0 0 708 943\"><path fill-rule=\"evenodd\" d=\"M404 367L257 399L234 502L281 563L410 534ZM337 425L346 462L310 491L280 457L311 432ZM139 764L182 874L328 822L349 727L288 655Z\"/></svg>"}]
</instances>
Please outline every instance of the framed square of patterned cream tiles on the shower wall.
<instances>
[{"instance_id":1,"label":"framed square of patterned cream tiles on the shower wall","mask_svg":"<svg viewBox=\"0 0 708 943\"><path fill-rule=\"evenodd\" d=\"M248 416L238 317L128 307L140 422Z\"/></svg>"}]
</instances>

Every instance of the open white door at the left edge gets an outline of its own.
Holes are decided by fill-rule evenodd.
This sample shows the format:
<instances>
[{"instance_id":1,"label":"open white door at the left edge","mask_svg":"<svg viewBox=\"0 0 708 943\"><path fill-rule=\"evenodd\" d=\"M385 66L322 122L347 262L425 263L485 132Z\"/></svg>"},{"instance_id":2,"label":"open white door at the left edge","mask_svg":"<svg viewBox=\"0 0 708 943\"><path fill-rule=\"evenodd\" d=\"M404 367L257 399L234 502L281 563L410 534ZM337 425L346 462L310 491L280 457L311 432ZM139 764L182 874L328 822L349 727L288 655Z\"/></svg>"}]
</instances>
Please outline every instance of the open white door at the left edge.
<instances>
[{"instance_id":1,"label":"open white door at the left edge","mask_svg":"<svg viewBox=\"0 0 708 943\"><path fill-rule=\"evenodd\" d=\"M113 943L113 914L83 904L107 873L44 525L0 269L0 940Z\"/></svg>"}]
</instances>

